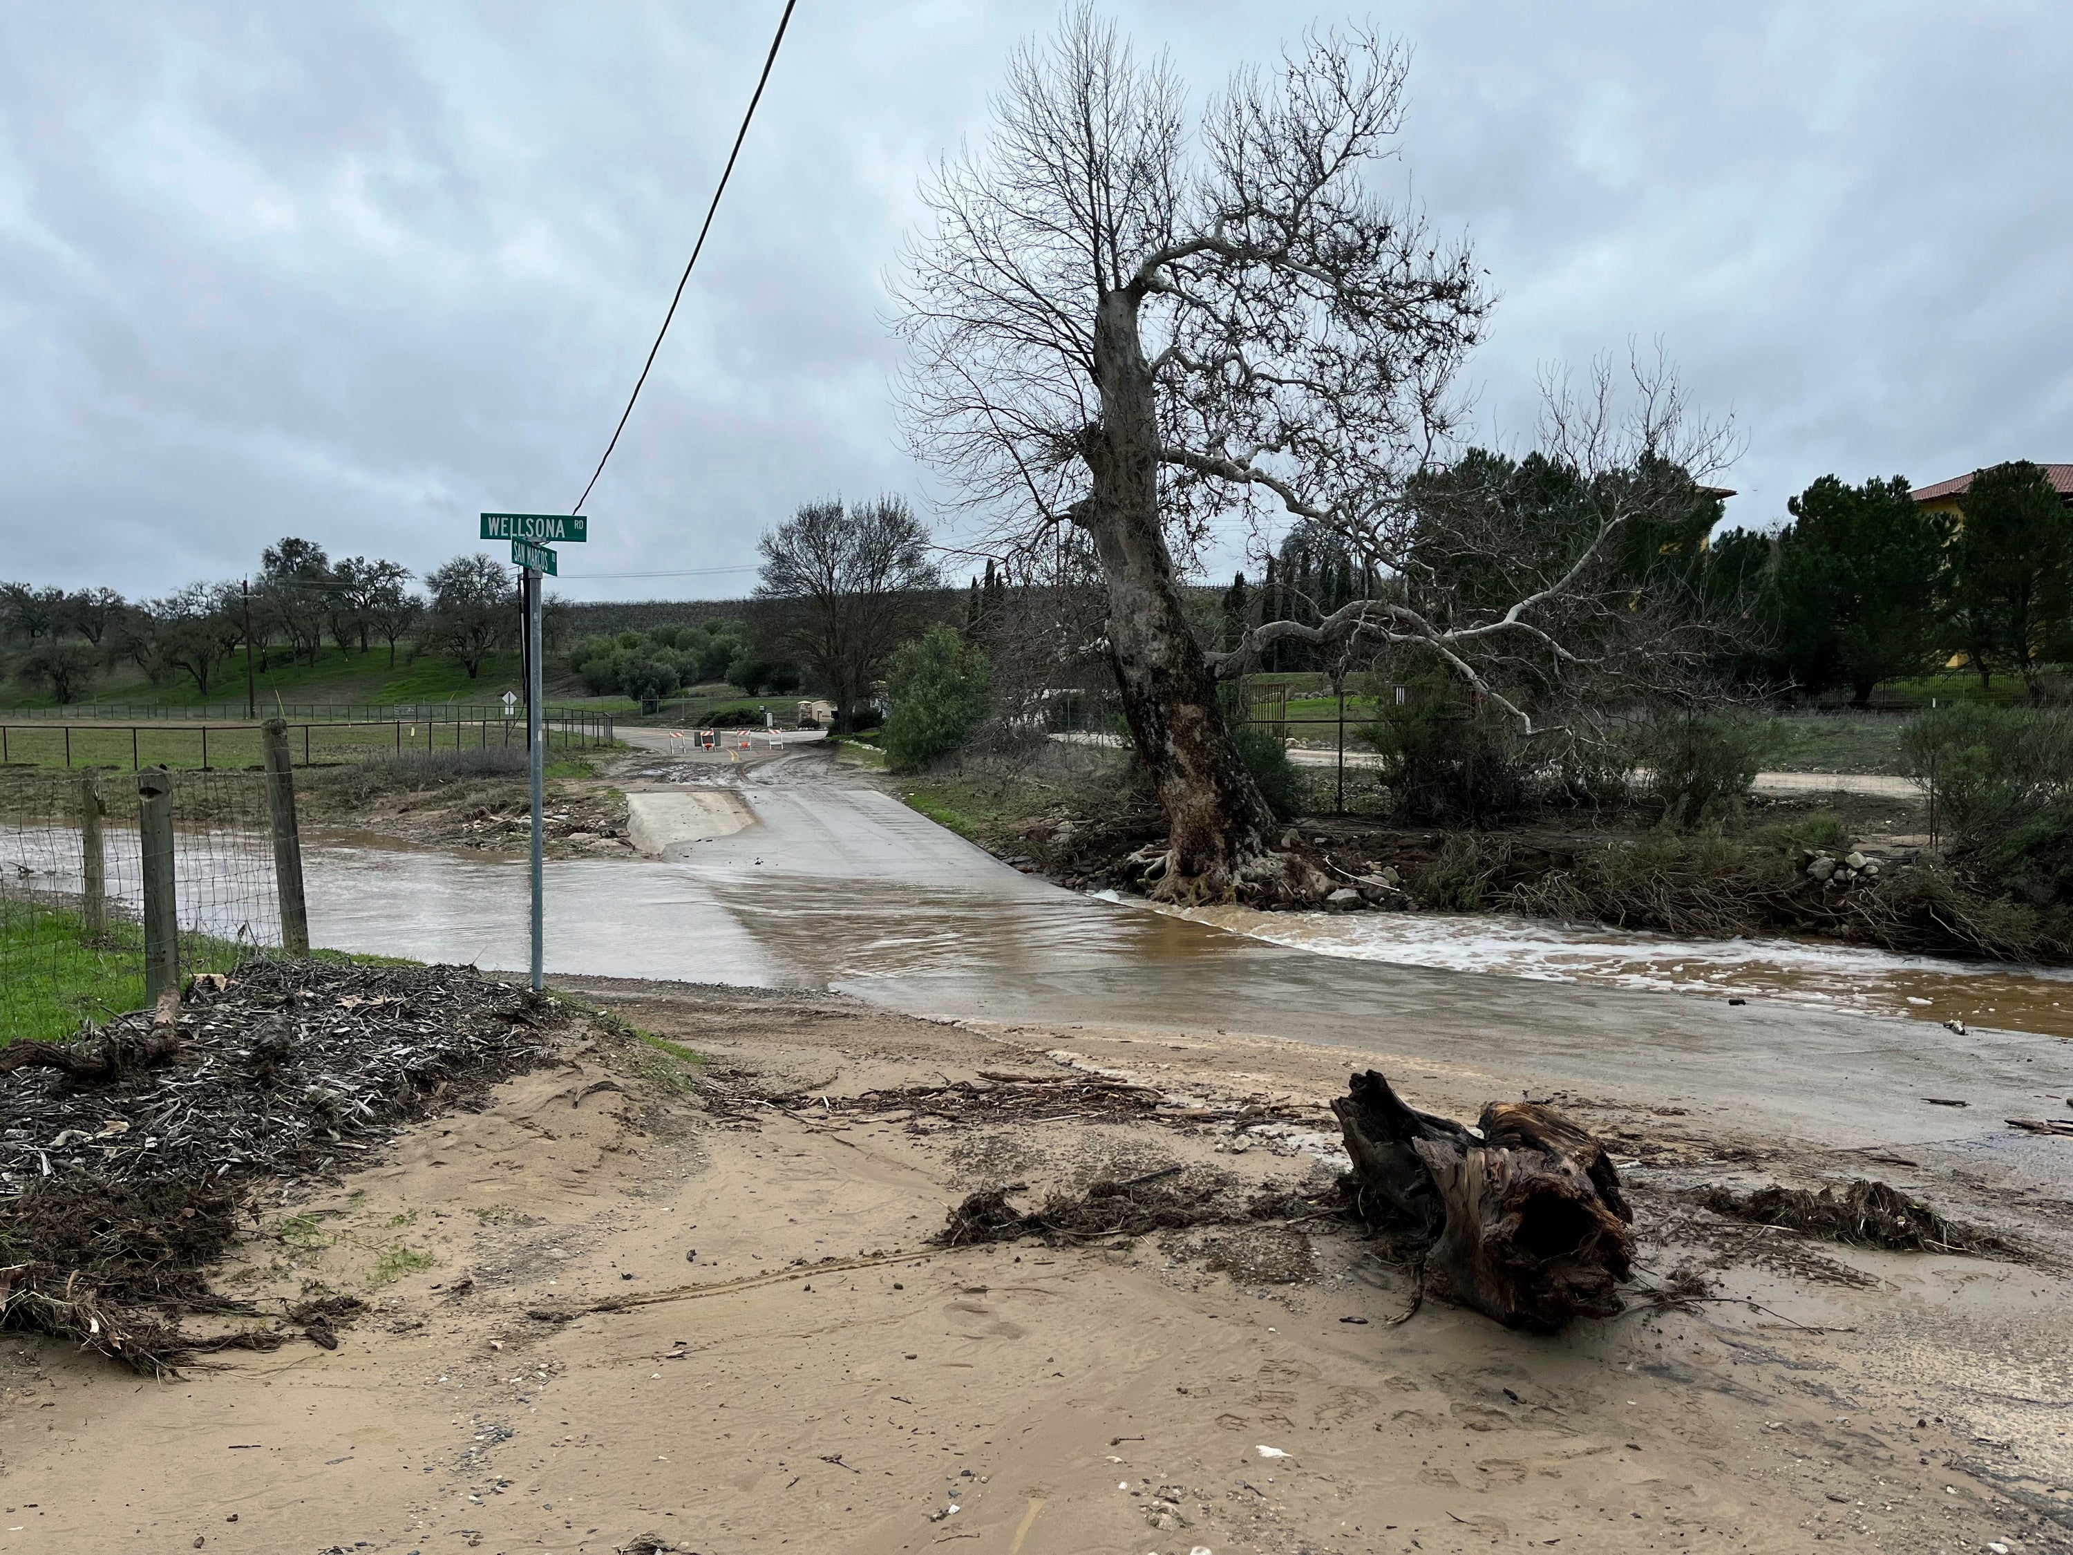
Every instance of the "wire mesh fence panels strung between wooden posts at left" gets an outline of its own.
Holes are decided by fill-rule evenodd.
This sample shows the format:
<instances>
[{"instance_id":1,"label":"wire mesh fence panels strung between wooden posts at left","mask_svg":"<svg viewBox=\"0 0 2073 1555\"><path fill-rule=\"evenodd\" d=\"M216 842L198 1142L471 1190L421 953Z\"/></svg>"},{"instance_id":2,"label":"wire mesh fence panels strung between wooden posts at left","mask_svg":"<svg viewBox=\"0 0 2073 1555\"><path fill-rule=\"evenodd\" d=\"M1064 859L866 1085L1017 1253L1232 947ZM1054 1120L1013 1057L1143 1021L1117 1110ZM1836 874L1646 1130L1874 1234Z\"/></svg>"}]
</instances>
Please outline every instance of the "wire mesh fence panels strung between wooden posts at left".
<instances>
[{"instance_id":1,"label":"wire mesh fence panels strung between wooden posts at left","mask_svg":"<svg viewBox=\"0 0 2073 1555\"><path fill-rule=\"evenodd\" d=\"M259 773L172 778L180 977L280 948ZM60 1041L145 1001L143 846L129 773L0 773L0 1043Z\"/></svg>"}]
</instances>

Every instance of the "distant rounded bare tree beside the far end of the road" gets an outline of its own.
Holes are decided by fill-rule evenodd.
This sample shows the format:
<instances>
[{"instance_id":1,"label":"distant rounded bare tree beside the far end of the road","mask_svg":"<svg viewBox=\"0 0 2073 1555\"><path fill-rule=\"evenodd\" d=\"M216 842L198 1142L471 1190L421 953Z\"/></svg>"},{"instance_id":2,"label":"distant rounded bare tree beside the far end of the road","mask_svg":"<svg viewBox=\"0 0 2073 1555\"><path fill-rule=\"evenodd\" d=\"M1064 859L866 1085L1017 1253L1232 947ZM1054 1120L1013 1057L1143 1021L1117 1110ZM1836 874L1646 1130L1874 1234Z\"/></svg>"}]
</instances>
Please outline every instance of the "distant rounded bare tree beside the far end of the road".
<instances>
[{"instance_id":1,"label":"distant rounded bare tree beside the far end of the road","mask_svg":"<svg viewBox=\"0 0 2073 1555\"><path fill-rule=\"evenodd\" d=\"M900 498L808 502L761 549L757 599L773 605L786 651L827 686L835 728L848 730L914 628L916 591L943 583L929 531Z\"/></svg>"}]
</instances>

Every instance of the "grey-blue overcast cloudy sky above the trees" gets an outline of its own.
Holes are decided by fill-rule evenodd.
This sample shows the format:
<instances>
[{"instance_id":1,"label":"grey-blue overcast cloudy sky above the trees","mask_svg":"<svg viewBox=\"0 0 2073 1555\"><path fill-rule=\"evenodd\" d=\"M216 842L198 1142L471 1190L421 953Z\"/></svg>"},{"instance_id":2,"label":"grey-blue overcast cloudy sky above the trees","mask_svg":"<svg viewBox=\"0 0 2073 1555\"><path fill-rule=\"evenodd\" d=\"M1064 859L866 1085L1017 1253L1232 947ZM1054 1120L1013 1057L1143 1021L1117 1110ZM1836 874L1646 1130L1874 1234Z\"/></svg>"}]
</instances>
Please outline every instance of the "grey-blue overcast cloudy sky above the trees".
<instances>
[{"instance_id":1,"label":"grey-blue overcast cloudy sky above the trees","mask_svg":"<svg viewBox=\"0 0 2073 1555\"><path fill-rule=\"evenodd\" d=\"M777 0L0 8L0 578L160 595L263 543L425 570L568 510L661 319ZM1663 340L1816 475L2073 460L2073 6L1113 6L1198 100L1312 19L1416 50L1403 164L1501 303L1478 427ZM1053 4L802 0L566 574L746 568L800 502L902 491L885 274ZM1221 558L1229 566L1231 558ZM750 570L564 578L744 593Z\"/></svg>"}]
</instances>

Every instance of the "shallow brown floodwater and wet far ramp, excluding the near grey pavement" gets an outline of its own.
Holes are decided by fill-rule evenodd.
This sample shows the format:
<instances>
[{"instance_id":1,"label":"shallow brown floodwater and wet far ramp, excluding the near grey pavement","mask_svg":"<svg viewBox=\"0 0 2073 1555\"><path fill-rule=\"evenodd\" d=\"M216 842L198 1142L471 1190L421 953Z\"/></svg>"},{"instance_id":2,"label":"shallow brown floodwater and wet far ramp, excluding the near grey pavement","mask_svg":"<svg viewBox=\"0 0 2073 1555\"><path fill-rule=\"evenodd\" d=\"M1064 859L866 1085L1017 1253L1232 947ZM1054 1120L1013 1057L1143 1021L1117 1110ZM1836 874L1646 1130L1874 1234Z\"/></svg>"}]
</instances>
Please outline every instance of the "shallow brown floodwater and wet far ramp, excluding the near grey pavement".
<instances>
[{"instance_id":1,"label":"shallow brown floodwater and wet far ramp, excluding the near grey pavement","mask_svg":"<svg viewBox=\"0 0 2073 1555\"><path fill-rule=\"evenodd\" d=\"M1453 914L1153 912L1005 869L898 800L788 778L730 792L752 823L663 858L547 865L547 970L692 983L927 987L935 1008L1014 1014L1014 989L1132 987L1217 1020L1289 952L1381 968L1783 1001L2073 1037L2073 972L1785 939L1681 941ZM740 784L740 786L736 786ZM311 848L311 927L342 950L524 964L524 865L375 840ZM1298 964L1306 956L1296 958ZM1273 977L1269 977L1273 974ZM1148 989L1165 993L1146 995ZM1217 989L1213 995L1211 989Z\"/></svg>"}]
</instances>

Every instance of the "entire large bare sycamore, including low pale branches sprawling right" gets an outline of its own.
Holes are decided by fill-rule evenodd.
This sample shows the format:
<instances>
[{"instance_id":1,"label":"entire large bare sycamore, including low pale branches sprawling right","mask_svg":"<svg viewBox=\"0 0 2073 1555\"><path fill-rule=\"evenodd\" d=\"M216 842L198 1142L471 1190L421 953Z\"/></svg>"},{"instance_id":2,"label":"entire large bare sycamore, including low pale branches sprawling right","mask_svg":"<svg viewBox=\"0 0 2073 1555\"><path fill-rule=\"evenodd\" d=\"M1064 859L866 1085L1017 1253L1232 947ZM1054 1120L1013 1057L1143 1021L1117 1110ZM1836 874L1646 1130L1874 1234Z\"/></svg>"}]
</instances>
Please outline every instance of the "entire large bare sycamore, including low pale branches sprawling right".
<instances>
[{"instance_id":1,"label":"entire large bare sycamore, including low pale branches sprawling right","mask_svg":"<svg viewBox=\"0 0 2073 1555\"><path fill-rule=\"evenodd\" d=\"M1275 70L1242 70L1190 133L1167 62L1078 8L1012 58L989 149L925 187L933 232L900 282L910 437L1007 549L1061 525L1092 543L1105 647L1169 821L1148 871L1161 896L1314 887L1271 852L1217 678L1279 639L1333 661L1416 645L1532 728L1536 701L1499 670L1553 661L1555 684L1611 663L1602 637L1569 645L1563 628L1605 624L1631 527L1681 512L1729 452L1669 373L1640 373L1625 415L1600 371L1580 394L1549 386L1542 456L1580 498L1536 566L1511 564L1528 537L1507 504L1418 500L1455 452L1453 381L1490 301L1466 243L1372 185L1405 68L1372 33L1314 33ZM1227 520L1254 539L1308 527L1372 587L1204 651L1175 560ZM1511 593L1464 593L1464 574Z\"/></svg>"}]
</instances>

